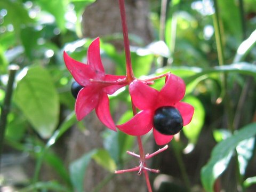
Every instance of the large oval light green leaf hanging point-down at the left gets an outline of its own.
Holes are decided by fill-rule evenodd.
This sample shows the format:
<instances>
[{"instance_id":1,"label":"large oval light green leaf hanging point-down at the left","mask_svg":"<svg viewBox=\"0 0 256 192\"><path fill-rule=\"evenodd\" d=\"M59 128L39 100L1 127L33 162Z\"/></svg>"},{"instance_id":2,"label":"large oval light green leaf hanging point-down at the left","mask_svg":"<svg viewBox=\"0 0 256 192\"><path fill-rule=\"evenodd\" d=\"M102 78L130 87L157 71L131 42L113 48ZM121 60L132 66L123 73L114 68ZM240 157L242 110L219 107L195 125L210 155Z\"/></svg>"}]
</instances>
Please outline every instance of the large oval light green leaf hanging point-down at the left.
<instances>
[{"instance_id":1,"label":"large oval light green leaf hanging point-down at the left","mask_svg":"<svg viewBox=\"0 0 256 192\"><path fill-rule=\"evenodd\" d=\"M14 102L42 138L52 135L59 121L59 98L48 71L31 67L18 82Z\"/></svg>"}]
</instances>

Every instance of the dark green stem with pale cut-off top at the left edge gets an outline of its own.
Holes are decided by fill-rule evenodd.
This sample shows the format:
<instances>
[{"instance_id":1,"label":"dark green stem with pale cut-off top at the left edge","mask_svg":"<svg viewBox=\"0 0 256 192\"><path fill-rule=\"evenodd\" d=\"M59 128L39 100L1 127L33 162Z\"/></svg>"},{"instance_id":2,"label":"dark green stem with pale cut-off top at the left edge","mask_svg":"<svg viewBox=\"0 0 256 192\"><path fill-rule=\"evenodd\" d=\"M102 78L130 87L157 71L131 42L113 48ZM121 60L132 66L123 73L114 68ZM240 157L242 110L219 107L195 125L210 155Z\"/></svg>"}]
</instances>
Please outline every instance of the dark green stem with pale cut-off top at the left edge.
<instances>
[{"instance_id":1,"label":"dark green stem with pale cut-off top at the left edge","mask_svg":"<svg viewBox=\"0 0 256 192\"><path fill-rule=\"evenodd\" d=\"M1 161L1 156L3 152L4 134L5 134L6 124L7 124L7 116L9 114L10 106L11 106L13 83L14 83L15 74L17 70L19 70L19 66L17 65L9 66L9 79L6 87L4 103L3 103L1 117L0 117L0 161Z\"/></svg>"}]
</instances>

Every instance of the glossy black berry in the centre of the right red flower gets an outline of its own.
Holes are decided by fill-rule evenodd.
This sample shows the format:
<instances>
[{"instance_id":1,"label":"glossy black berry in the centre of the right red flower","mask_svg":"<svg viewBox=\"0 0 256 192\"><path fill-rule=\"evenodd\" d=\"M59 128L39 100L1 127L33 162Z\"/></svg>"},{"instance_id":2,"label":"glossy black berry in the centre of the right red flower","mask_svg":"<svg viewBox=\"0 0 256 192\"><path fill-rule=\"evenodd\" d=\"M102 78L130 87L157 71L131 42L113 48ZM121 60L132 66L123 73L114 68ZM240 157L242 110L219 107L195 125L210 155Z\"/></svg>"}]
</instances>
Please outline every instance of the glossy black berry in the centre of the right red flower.
<instances>
[{"instance_id":1,"label":"glossy black berry in the centre of the right red flower","mask_svg":"<svg viewBox=\"0 0 256 192\"><path fill-rule=\"evenodd\" d=\"M183 128L180 112L174 107L160 107L155 111L154 127L165 135L174 135Z\"/></svg>"}]
</instances>

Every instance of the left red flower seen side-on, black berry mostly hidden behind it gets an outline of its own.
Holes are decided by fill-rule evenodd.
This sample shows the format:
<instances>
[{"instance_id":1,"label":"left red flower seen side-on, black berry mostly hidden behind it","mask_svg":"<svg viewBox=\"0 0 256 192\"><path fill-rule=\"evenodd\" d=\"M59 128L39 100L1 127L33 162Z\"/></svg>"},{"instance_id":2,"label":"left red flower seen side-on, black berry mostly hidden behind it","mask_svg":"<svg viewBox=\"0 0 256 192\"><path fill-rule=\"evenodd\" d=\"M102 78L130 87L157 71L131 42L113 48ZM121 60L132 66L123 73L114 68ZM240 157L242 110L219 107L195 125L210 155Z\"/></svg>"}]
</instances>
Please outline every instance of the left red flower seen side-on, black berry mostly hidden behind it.
<instances>
[{"instance_id":1,"label":"left red flower seen side-on, black berry mostly hidden behind it","mask_svg":"<svg viewBox=\"0 0 256 192\"><path fill-rule=\"evenodd\" d=\"M78 121L81 121L94 108L100 121L109 129L116 131L116 126L109 111L108 94L113 94L120 87L115 84L125 76L105 74L100 58L100 39L96 38L88 48L87 64L81 63L69 57L64 52L64 61L74 77L75 81L82 85L75 104L75 111ZM106 83L104 83L106 82ZM113 82L113 84L107 83Z\"/></svg>"}]
</instances>

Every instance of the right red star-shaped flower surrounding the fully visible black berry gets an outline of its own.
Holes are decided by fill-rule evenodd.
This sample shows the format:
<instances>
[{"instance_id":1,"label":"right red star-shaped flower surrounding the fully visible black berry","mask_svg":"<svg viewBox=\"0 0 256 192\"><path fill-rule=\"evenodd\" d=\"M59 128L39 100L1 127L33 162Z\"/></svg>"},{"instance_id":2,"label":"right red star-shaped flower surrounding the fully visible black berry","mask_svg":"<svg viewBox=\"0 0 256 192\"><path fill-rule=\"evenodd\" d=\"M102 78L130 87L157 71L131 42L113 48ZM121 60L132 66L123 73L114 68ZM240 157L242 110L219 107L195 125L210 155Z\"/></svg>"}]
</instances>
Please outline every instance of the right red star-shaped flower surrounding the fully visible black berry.
<instances>
[{"instance_id":1,"label":"right red star-shaped flower surrounding the fully visible black berry","mask_svg":"<svg viewBox=\"0 0 256 192\"><path fill-rule=\"evenodd\" d=\"M170 142L173 135L165 135L154 127L153 118L155 111L160 107L174 107L183 119L183 125L190 123L194 114L194 107L180 100L185 95L185 83L180 77L169 74L161 91L157 91L145 83L135 80L129 86L132 102L141 111L130 121L117 125L118 129L130 135L143 135L153 127L153 134L157 145Z\"/></svg>"}]
</instances>

